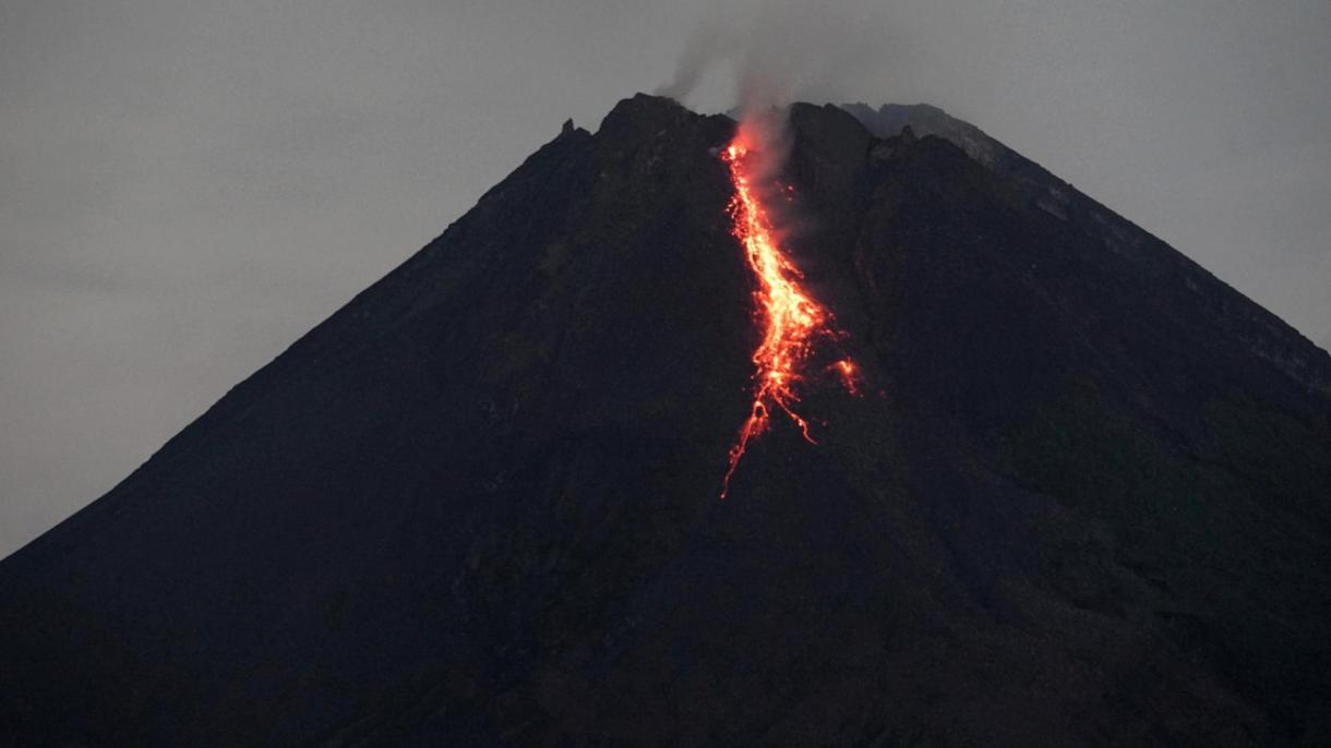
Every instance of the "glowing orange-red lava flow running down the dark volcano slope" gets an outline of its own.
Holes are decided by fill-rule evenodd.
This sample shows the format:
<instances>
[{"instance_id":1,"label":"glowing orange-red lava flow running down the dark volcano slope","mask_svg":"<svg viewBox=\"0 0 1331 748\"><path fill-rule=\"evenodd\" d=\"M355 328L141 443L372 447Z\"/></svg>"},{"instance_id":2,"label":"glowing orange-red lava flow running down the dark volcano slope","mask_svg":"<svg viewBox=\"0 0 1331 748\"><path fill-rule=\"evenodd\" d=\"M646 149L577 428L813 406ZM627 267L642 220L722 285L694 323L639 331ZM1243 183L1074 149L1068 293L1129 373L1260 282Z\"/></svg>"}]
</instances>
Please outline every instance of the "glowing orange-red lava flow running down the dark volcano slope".
<instances>
[{"instance_id":1,"label":"glowing orange-red lava flow running down the dark volcano slope","mask_svg":"<svg viewBox=\"0 0 1331 748\"><path fill-rule=\"evenodd\" d=\"M768 209L763 204L760 186L755 184L753 137L741 124L721 160L729 166L735 197L731 198L729 214L733 221L731 233L744 246L749 269L757 281L753 298L764 326L763 342L753 351L755 391L749 417L740 429L740 435L729 451L729 466L721 482L721 498L729 491L731 476L744 457L749 441L771 427L773 409L784 411L809 443L817 443L809 434L809 423L795 406L800 402L795 385L803 378L804 365L813 353L819 337L839 337L831 329L832 313L811 298L800 281L804 274L781 250L772 228ZM855 393L855 363L851 359L837 362L836 369L851 393Z\"/></svg>"}]
</instances>

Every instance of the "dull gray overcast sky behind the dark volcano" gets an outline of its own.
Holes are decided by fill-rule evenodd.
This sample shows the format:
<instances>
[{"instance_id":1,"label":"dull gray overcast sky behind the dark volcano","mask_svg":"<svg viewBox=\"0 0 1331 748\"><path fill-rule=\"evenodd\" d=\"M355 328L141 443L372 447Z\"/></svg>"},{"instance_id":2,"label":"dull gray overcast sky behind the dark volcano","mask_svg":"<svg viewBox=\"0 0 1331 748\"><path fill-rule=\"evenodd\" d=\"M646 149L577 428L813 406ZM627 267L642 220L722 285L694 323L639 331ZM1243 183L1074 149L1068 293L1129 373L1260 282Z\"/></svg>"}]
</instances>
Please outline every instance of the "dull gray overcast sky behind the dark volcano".
<instances>
[{"instance_id":1,"label":"dull gray overcast sky behind the dark volcano","mask_svg":"<svg viewBox=\"0 0 1331 748\"><path fill-rule=\"evenodd\" d=\"M0 0L0 556L700 25L980 125L1331 345L1327 0L779 3Z\"/></svg>"}]
</instances>

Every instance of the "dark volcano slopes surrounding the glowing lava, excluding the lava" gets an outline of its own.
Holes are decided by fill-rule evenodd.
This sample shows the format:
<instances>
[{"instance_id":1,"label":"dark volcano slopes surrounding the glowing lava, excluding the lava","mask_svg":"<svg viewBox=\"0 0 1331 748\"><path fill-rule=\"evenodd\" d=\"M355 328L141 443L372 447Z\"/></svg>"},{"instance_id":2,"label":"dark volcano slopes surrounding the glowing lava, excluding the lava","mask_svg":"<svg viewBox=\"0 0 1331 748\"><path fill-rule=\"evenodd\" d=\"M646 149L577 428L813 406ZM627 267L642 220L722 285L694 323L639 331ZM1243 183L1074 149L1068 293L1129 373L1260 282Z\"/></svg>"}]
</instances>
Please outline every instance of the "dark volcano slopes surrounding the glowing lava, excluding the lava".
<instances>
[{"instance_id":1,"label":"dark volcano slopes surrounding the glowing lava, excluding the lava","mask_svg":"<svg viewBox=\"0 0 1331 748\"><path fill-rule=\"evenodd\" d=\"M735 124L626 100L0 563L0 735L1331 743L1331 359L865 110L791 112L791 252L862 370L805 383L819 445L775 419L717 499Z\"/></svg>"}]
</instances>

